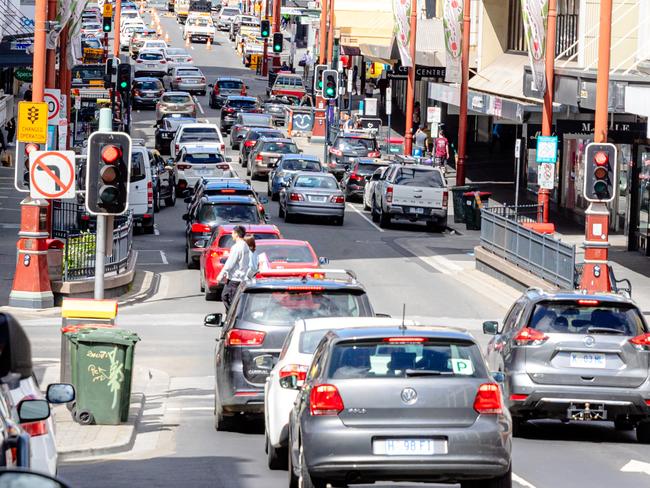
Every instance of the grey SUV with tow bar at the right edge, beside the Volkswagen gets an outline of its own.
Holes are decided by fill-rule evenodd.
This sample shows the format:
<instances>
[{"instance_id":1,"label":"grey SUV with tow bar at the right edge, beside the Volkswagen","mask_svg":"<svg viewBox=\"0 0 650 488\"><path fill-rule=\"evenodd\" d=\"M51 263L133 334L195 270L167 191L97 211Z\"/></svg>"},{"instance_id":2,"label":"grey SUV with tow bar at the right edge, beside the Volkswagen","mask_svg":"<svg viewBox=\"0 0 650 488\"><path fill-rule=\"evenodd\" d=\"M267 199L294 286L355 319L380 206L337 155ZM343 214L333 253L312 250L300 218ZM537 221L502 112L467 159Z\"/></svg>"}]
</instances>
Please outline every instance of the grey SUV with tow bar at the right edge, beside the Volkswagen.
<instances>
[{"instance_id":1,"label":"grey SUV with tow bar at the right edge, beside the Volkswagen","mask_svg":"<svg viewBox=\"0 0 650 488\"><path fill-rule=\"evenodd\" d=\"M650 334L629 298L529 289L483 331L515 432L529 419L610 420L650 443Z\"/></svg>"}]
</instances>

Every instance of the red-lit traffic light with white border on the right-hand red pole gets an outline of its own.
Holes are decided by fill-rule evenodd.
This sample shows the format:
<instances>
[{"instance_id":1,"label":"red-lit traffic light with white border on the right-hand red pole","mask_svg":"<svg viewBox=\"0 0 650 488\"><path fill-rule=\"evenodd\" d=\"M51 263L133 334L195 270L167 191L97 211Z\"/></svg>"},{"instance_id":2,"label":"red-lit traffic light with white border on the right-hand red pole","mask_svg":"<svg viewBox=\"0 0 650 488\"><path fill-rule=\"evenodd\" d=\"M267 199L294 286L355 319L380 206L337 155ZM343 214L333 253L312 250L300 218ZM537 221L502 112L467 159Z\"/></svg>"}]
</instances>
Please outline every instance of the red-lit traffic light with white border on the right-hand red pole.
<instances>
[{"instance_id":1,"label":"red-lit traffic light with white border on the right-hand red pole","mask_svg":"<svg viewBox=\"0 0 650 488\"><path fill-rule=\"evenodd\" d=\"M611 202L617 187L616 146L592 142L585 151L585 198Z\"/></svg>"}]
</instances>

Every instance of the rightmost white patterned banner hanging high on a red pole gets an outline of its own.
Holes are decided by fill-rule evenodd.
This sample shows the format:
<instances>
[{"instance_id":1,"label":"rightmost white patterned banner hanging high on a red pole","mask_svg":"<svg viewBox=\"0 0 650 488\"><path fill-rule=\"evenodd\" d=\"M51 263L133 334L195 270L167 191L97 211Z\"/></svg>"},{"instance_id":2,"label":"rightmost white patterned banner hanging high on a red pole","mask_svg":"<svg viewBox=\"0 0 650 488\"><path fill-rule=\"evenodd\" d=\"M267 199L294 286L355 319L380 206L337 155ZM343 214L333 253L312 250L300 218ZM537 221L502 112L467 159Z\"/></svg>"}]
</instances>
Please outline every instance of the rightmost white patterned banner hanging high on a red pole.
<instances>
[{"instance_id":1,"label":"rightmost white patterned banner hanging high on a red pole","mask_svg":"<svg viewBox=\"0 0 650 488\"><path fill-rule=\"evenodd\" d=\"M546 25L548 0L521 0L521 17L535 90L546 91Z\"/></svg>"}]
</instances>

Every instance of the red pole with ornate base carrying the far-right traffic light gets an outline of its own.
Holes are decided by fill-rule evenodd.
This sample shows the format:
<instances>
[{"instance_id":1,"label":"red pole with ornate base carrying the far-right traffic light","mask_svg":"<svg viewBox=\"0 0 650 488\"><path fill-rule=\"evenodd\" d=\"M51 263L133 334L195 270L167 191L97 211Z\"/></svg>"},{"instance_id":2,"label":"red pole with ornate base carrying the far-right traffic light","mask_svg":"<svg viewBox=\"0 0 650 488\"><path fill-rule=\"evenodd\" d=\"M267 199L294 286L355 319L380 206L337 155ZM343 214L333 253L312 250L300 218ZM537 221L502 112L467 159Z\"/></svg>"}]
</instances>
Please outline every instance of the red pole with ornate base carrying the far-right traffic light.
<instances>
[{"instance_id":1,"label":"red pole with ornate base carrying the far-right traffic light","mask_svg":"<svg viewBox=\"0 0 650 488\"><path fill-rule=\"evenodd\" d=\"M607 142L611 43L612 0L601 0L594 121L594 142L596 143ZM611 164L617 165L618 161L613 161ZM618 182L615 181L613 184L618 185ZM609 281L609 209L606 203L594 202L589 204L585 215L585 264L580 288L589 292L608 292L611 291L612 285Z\"/></svg>"}]
</instances>

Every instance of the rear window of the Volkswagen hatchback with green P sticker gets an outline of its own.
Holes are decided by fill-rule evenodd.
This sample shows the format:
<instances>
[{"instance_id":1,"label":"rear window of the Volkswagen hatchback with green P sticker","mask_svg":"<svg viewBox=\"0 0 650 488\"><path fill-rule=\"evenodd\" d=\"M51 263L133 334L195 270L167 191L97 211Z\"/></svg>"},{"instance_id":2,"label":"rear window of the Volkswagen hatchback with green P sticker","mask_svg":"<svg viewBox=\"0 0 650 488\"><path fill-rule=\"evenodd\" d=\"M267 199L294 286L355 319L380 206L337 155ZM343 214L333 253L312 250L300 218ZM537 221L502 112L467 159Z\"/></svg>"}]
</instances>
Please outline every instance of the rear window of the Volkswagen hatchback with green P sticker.
<instances>
[{"instance_id":1,"label":"rear window of the Volkswagen hatchback with green P sticker","mask_svg":"<svg viewBox=\"0 0 650 488\"><path fill-rule=\"evenodd\" d=\"M328 377L333 379L415 376L481 378L487 372L475 344L413 337L342 342L329 361Z\"/></svg>"}]
</instances>

